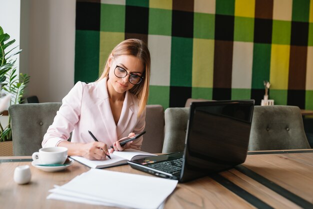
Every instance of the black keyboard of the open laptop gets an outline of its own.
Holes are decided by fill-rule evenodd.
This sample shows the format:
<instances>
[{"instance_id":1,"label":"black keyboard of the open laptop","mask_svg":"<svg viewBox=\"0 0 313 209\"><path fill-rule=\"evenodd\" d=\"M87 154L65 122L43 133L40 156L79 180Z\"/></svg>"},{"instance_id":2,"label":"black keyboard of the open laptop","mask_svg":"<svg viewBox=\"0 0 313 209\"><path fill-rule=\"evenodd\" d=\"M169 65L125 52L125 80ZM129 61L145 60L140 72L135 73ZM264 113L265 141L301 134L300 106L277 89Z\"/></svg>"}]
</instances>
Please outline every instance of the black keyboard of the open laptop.
<instances>
[{"instance_id":1,"label":"black keyboard of the open laptop","mask_svg":"<svg viewBox=\"0 0 313 209\"><path fill-rule=\"evenodd\" d=\"M182 166L182 157L178 159L172 159L162 162L156 162L152 164L148 164L148 167L152 167L157 170L161 170L164 172L168 172L171 174L176 174L180 172Z\"/></svg>"}]
</instances>

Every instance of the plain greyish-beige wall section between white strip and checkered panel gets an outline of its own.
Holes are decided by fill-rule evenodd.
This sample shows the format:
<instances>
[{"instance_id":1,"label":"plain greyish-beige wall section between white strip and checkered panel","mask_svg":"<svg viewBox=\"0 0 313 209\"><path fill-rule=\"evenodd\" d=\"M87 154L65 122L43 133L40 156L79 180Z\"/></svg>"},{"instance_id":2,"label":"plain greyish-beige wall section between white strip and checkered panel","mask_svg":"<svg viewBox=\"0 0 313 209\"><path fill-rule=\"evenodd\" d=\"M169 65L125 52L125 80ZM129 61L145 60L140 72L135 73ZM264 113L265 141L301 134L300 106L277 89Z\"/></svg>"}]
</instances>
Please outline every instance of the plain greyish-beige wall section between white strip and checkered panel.
<instances>
[{"instance_id":1,"label":"plain greyish-beige wall section between white strip and checkered panel","mask_svg":"<svg viewBox=\"0 0 313 209\"><path fill-rule=\"evenodd\" d=\"M27 1L21 9L29 10L28 95L61 101L74 84L75 0Z\"/></svg>"}]
</instances>

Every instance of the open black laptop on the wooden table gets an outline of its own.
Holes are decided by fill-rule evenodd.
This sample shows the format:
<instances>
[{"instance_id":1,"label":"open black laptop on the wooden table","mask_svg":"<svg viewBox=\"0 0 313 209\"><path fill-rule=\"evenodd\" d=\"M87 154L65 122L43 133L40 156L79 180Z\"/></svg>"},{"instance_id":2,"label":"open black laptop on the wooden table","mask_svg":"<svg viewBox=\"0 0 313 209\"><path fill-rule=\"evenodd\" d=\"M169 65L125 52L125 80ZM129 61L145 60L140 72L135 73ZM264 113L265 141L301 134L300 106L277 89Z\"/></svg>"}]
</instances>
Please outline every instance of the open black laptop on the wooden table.
<instances>
[{"instance_id":1,"label":"open black laptop on the wooden table","mask_svg":"<svg viewBox=\"0 0 313 209\"><path fill-rule=\"evenodd\" d=\"M245 161L254 100L197 101L190 104L184 150L128 161L159 177L193 180Z\"/></svg>"}]
</instances>

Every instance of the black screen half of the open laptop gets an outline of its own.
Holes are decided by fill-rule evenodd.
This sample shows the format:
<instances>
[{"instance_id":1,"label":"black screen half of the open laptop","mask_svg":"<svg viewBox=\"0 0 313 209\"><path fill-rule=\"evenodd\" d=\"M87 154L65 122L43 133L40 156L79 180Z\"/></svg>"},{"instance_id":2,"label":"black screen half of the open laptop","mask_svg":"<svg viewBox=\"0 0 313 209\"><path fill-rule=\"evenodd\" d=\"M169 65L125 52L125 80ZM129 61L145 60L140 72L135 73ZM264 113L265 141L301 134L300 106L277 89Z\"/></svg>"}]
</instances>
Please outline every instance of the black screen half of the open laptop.
<instances>
[{"instance_id":1,"label":"black screen half of the open laptop","mask_svg":"<svg viewBox=\"0 0 313 209\"><path fill-rule=\"evenodd\" d=\"M244 162L254 100L192 102L181 178Z\"/></svg>"}]
</instances>

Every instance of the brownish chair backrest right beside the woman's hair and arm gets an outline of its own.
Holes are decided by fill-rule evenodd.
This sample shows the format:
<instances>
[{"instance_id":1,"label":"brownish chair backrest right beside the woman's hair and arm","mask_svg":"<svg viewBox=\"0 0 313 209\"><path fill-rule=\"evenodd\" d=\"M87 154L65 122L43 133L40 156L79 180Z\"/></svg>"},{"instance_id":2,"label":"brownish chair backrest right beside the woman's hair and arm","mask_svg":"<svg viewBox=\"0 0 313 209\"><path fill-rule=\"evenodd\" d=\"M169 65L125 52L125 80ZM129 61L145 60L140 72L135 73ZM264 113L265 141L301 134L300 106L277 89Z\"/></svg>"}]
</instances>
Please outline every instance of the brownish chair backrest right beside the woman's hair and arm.
<instances>
[{"instance_id":1,"label":"brownish chair backrest right beside the woman's hair and arm","mask_svg":"<svg viewBox=\"0 0 313 209\"><path fill-rule=\"evenodd\" d=\"M164 109L159 104L146 105L142 151L161 153L164 140Z\"/></svg>"}]
</instances>

